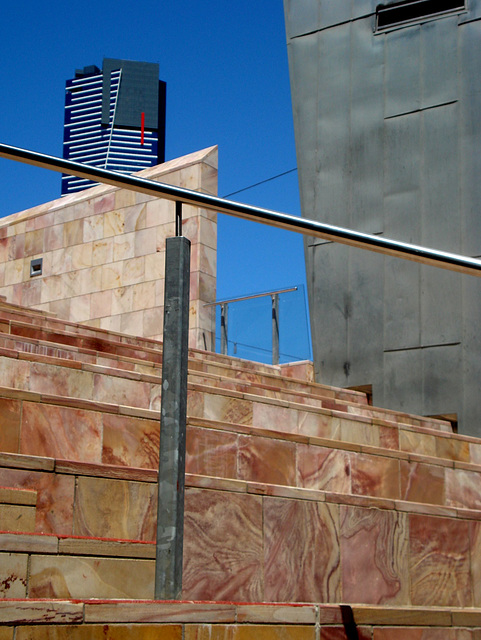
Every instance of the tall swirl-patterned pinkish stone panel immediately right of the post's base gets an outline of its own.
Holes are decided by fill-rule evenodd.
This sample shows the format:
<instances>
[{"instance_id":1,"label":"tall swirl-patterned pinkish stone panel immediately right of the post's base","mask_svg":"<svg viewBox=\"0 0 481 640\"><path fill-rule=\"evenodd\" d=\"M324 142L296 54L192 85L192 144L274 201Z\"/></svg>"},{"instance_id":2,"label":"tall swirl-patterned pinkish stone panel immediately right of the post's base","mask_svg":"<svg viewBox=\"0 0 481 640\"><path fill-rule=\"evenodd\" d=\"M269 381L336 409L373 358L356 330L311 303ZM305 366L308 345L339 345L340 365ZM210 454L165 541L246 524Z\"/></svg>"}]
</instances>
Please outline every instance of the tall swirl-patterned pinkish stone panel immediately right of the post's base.
<instances>
[{"instance_id":1,"label":"tall swirl-patterned pinkish stone panel immediately right of the post's base","mask_svg":"<svg viewBox=\"0 0 481 640\"><path fill-rule=\"evenodd\" d=\"M187 491L182 597L259 602L263 592L262 498Z\"/></svg>"}]
</instances>

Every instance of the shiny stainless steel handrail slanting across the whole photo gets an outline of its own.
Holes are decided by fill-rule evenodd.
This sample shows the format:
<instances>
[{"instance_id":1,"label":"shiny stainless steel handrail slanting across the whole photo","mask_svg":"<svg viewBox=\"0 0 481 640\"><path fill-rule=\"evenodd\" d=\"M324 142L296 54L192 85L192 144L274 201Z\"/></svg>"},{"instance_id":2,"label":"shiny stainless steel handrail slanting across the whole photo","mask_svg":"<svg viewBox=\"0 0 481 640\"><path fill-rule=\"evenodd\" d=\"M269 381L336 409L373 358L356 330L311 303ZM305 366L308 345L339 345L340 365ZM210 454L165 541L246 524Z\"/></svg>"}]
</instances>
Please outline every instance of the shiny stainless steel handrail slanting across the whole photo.
<instances>
[{"instance_id":1,"label":"shiny stainless steel handrail slanting across the whole photo","mask_svg":"<svg viewBox=\"0 0 481 640\"><path fill-rule=\"evenodd\" d=\"M108 171L107 169L98 169L81 164L80 162L64 160L63 158L56 158L6 144L0 144L0 157L17 160L44 169L60 171L81 178L87 178L115 187L122 187L150 196L161 196L167 200L183 202L185 204L217 211L218 213L262 222L263 224L273 227L346 244L359 249L367 249L369 251L375 251L376 253L441 267L450 271L457 271L478 277L481 276L481 260L461 256L456 253L437 251L436 249L428 249L420 245L390 240L383 236L375 236L368 233L361 233L360 231L353 231L352 229L335 227L323 222L225 200L224 198L218 198L206 193L199 193L161 182L147 180L146 178L140 178L136 175L122 175L114 171Z\"/></svg>"}]
</instances>

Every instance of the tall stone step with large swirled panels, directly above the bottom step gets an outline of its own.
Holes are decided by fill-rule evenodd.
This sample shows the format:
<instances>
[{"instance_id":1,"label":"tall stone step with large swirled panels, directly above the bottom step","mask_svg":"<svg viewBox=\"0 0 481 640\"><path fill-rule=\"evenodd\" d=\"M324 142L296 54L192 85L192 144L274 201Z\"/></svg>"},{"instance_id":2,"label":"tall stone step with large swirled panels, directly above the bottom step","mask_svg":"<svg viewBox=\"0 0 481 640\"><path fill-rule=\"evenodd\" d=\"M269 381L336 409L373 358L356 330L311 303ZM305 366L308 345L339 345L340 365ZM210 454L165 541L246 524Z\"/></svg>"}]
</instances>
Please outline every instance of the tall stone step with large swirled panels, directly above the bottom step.
<instances>
[{"instance_id":1,"label":"tall stone step with large swirled panels, directly above the bottom step","mask_svg":"<svg viewBox=\"0 0 481 640\"><path fill-rule=\"evenodd\" d=\"M0 463L1 483L38 488L38 532L155 537L154 471L8 454ZM186 476L189 600L481 606L479 558L481 510Z\"/></svg>"}]
</instances>

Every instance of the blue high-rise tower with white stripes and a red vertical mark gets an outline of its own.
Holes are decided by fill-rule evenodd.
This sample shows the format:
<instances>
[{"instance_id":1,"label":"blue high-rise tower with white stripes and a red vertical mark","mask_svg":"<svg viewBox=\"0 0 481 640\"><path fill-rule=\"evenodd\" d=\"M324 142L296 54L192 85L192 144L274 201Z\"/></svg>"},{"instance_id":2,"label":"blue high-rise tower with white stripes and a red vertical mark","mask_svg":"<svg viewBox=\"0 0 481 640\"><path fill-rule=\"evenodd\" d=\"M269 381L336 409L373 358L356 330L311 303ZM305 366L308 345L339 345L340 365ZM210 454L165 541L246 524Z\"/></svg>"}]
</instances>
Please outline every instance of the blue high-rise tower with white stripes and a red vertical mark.
<instances>
[{"instance_id":1,"label":"blue high-rise tower with white stripes and a red vertical mark","mask_svg":"<svg viewBox=\"0 0 481 640\"><path fill-rule=\"evenodd\" d=\"M105 58L75 72L65 87L63 157L120 173L165 159L165 83L159 65ZM92 186L62 176L62 195Z\"/></svg>"}]
</instances>

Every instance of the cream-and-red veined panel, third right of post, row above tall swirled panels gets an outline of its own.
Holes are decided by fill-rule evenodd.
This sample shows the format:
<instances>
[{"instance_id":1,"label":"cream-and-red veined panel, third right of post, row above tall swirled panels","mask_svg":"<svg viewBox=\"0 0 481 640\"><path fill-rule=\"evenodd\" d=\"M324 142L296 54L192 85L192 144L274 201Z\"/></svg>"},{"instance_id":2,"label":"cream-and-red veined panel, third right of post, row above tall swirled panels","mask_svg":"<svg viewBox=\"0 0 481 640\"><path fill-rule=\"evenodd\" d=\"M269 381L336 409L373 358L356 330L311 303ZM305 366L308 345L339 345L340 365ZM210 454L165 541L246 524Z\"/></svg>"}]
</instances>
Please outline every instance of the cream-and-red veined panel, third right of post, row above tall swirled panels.
<instances>
[{"instance_id":1,"label":"cream-and-red veined panel, third right of post, row above tall swirled panels","mask_svg":"<svg viewBox=\"0 0 481 640\"><path fill-rule=\"evenodd\" d=\"M351 493L349 454L339 449L299 444L297 486L335 493Z\"/></svg>"}]
</instances>

